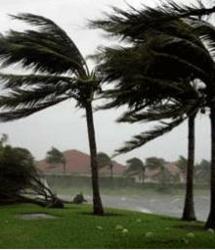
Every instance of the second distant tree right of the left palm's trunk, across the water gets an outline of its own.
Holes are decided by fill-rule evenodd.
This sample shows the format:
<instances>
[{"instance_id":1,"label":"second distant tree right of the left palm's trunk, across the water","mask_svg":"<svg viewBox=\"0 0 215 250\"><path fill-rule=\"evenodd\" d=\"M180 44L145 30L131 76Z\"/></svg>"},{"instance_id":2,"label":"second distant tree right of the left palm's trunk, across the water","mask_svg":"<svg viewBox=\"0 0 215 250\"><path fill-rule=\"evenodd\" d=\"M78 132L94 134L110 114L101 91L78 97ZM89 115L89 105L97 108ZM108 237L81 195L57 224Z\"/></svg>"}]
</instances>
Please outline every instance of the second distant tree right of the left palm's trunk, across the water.
<instances>
[{"instance_id":1,"label":"second distant tree right of the left palm's trunk, across the water","mask_svg":"<svg viewBox=\"0 0 215 250\"><path fill-rule=\"evenodd\" d=\"M125 175L127 176L134 176L139 175L141 176L142 182L144 182L145 179L145 165L139 158L131 158L126 161L126 165L128 166L128 169L125 171Z\"/></svg>"}]
</instances>

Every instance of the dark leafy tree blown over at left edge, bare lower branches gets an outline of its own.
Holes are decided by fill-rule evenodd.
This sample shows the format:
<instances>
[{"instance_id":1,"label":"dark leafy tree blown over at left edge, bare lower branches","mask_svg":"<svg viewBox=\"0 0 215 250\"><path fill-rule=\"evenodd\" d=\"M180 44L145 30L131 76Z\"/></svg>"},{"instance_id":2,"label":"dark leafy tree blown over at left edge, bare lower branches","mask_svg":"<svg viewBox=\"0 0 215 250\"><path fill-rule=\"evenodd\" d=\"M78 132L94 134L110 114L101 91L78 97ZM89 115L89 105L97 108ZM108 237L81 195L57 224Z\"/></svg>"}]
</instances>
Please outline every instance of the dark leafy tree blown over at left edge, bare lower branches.
<instances>
[{"instance_id":1,"label":"dark leafy tree blown over at left edge, bare lower branches","mask_svg":"<svg viewBox=\"0 0 215 250\"><path fill-rule=\"evenodd\" d=\"M63 208L64 201L45 184L30 151L12 147L6 139L5 135L0 139L0 205L33 203Z\"/></svg>"}]
</instances>

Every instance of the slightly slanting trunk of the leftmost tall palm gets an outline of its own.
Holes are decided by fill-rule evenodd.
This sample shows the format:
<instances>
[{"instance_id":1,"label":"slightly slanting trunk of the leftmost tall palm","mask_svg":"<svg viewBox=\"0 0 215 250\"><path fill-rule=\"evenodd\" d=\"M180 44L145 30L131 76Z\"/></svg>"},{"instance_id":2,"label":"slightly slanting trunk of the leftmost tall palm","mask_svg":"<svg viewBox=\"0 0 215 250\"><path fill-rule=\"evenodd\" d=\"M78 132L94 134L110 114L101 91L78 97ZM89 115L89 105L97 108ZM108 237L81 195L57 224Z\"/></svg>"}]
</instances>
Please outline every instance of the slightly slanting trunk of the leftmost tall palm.
<instances>
[{"instance_id":1,"label":"slightly slanting trunk of the leftmost tall palm","mask_svg":"<svg viewBox=\"0 0 215 250\"><path fill-rule=\"evenodd\" d=\"M98 163L96 139L93 122L93 112L91 103L86 104L87 129L91 156L91 174L92 174L92 189L93 189L93 213L96 215L103 215L104 210L99 193L99 178L98 178Z\"/></svg>"}]
</instances>

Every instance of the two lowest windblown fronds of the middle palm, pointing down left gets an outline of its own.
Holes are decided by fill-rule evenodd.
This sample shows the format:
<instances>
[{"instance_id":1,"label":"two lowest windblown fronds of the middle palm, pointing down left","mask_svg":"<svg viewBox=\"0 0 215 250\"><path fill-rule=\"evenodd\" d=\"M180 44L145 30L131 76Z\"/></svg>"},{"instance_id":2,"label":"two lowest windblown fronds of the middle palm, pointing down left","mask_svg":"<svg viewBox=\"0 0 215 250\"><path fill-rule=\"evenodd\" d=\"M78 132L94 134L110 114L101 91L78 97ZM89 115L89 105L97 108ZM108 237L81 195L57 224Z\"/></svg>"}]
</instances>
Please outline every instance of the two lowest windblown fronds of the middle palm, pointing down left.
<instances>
[{"instance_id":1,"label":"two lowest windblown fronds of the middle palm, pointing down left","mask_svg":"<svg viewBox=\"0 0 215 250\"><path fill-rule=\"evenodd\" d=\"M199 98L196 98L195 100L184 100L184 103L175 101L175 103L150 106L147 110L141 112L131 110L124 113L122 117L117 120L118 122L137 123L159 121L163 125L134 136L132 140L125 143L124 147L116 150L116 155L128 153L172 131L188 117L195 116L198 113L200 102L201 100ZM168 123L163 122L167 119L171 119L172 121Z\"/></svg>"}]
</instances>

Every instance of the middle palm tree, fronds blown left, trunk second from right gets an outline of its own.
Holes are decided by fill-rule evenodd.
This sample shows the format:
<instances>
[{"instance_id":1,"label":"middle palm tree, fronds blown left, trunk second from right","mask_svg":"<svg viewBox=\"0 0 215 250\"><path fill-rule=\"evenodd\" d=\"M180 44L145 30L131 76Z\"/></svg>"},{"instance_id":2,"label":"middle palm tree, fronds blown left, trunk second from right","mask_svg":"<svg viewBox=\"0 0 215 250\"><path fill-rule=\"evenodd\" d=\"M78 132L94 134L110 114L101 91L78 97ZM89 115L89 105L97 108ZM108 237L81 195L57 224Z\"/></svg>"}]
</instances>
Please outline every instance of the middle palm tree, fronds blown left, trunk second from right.
<instances>
[{"instance_id":1,"label":"middle palm tree, fronds blown left, trunk second from right","mask_svg":"<svg viewBox=\"0 0 215 250\"><path fill-rule=\"evenodd\" d=\"M175 25L175 28L177 27L178 24ZM176 31L178 30L176 29ZM175 35L174 38L178 37ZM145 46L138 45L134 48L106 49L103 52L105 60L103 59L104 63L100 65L100 69L106 75L108 81L117 80L118 82L117 88L105 92L104 96L112 98L113 101L103 108L116 107L128 103L131 110L123 114L118 121L129 123L160 121L163 123L162 126L156 127L152 131L135 136L134 139L126 143L125 147L117 150L117 153L126 153L140 147L171 131L188 118L189 165L184 208L186 212L183 214L183 219L193 220L195 219L192 184L194 121L198 110L204 105L204 98L189 78L180 82L177 79L178 75L172 75L169 77L170 79L167 79L166 75L168 75L169 67L173 67L171 60L173 56L178 56L176 53L171 54L169 51L173 50L173 48L178 49L179 43L184 48L189 48L189 43L185 38L178 38L178 40L171 43L170 39L172 39L172 35L165 35L164 37L162 33L161 35L157 34L154 40L151 38L150 43L147 41L148 43ZM154 59L155 53L156 60L159 61ZM169 56L169 61L166 60L165 67L163 61L161 61L163 54L166 57ZM183 59L186 60L186 58ZM132 67L133 64L135 64L135 67ZM174 64L175 69L178 66L179 64ZM184 68L178 73L180 74L183 71ZM166 120L169 119L171 119L171 122L168 123Z\"/></svg>"}]
</instances>

